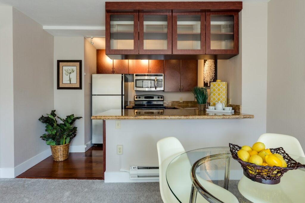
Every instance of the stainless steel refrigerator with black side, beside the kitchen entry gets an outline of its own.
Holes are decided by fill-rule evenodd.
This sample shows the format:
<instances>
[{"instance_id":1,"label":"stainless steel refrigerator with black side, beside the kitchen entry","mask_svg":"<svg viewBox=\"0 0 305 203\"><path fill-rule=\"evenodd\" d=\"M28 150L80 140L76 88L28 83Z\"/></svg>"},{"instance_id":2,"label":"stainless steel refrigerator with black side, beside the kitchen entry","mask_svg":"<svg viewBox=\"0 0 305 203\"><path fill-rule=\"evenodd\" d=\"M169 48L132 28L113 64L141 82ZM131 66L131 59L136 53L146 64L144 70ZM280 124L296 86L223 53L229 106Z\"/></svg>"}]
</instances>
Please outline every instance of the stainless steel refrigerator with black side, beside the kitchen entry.
<instances>
[{"instance_id":1,"label":"stainless steel refrigerator with black side, beside the kitchen entry","mask_svg":"<svg viewBox=\"0 0 305 203\"><path fill-rule=\"evenodd\" d=\"M92 115L128 105L127 77L124 74L92 74ZM92 144L103 143L103 121L92 120Z\"/></svg>"}]
</instances>

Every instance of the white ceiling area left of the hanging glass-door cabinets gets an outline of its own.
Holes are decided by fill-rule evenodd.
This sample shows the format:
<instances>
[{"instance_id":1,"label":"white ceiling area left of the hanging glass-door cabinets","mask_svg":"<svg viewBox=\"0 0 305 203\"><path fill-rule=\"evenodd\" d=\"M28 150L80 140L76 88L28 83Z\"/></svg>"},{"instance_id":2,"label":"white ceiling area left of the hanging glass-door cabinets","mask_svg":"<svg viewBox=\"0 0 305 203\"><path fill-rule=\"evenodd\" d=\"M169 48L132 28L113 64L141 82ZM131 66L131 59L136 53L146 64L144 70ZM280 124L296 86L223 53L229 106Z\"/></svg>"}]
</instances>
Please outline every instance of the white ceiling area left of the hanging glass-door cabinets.
<instances>
[{"instance_id":1,"label":"white ceiling area left of the hanging glass-door cabinets","mask_svg":"<svg viewBox=\"0 0 305 203\"><path fill-rule=\"evenodd\" d=\"M107 0L107 2L136 0ZM156 2L163 0L140 0ZM139 2L140 2L139 1ZM181 0L166 0L181 1ZM200 0L182 0L187 2ZM232 0L205 0L232 1ZM235 0L268 2L269 0ZM105 0L0 0L0 6L13 6L41 24L53 36L105 36ZM103 46L102 44L99 46Z\"/></svg>"}]
</instances>

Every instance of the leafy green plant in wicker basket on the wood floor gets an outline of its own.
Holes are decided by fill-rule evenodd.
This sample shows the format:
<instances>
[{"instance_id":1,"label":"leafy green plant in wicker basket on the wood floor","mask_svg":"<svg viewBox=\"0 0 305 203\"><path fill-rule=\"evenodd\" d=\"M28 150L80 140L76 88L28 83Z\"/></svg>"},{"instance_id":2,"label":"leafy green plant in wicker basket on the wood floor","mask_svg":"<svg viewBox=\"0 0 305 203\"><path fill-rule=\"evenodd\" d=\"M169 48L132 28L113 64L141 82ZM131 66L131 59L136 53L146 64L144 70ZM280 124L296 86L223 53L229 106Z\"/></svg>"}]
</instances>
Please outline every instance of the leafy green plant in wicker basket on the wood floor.
<instances>
[{"instance_id":1,"label":"leafy green plant in wicker basket on the wood floor","mask_svg":"<svg viewBox=\"0 0 305 203\"><path fill-rule=\"evenodd\" d=\"M57 118L62 123L58 123ZM51 114L47 114L47 116L41 115L38 119L46 124L45 131L47 133L40 136L40 138L45 140L47 145L50 145L54 161L68 159L70 142L76 136L77 130L77 127L74 127L73 124L80 118L82 117L74 117L74 114L71 114L66 116L66 119L62 119L55 114L55 110L52 110Z\"/></svg>"}]
</instances>

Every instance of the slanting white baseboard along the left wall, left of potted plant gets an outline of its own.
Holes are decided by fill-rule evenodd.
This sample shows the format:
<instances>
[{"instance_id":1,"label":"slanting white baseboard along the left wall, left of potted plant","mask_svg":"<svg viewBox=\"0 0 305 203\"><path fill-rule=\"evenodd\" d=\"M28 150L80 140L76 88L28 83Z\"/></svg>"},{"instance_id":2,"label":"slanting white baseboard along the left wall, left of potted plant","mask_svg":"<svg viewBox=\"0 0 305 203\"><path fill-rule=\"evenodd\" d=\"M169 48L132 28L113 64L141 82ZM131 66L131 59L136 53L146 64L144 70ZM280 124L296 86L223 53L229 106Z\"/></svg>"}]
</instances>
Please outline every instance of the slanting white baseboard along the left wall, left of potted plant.
<instances>
[{"instance_id":1,"label":"slanting white baseboard along the left wall, left of potted plant","mask_svg":"<svg viewBox=\"0 0 305 203\"><path fill-rule=\"evenodd\" d=\"M51 155L52 155L51 149L49 148L49 149L39 153L38 155L33 156L32 158L26 160L25 162L19 164L18 166L15 167L15 171L14 171L15 176L14 177L19 176L24 171L35 166L36 164L38 164L39 162L48 158Z\"/></svg>"}]
</instances>

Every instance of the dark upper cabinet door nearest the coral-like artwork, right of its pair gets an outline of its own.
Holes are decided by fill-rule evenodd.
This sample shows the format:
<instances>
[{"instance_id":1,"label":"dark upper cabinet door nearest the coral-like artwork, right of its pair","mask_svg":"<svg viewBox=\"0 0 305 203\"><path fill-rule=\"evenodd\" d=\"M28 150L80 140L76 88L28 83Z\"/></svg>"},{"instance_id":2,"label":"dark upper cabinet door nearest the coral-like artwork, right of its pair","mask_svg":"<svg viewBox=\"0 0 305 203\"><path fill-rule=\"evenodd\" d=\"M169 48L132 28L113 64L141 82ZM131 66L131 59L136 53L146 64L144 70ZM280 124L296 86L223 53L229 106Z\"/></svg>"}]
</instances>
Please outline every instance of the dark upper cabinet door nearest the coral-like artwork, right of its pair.
<instances>
[{"instance_id":1,"label":"dark upper cabinet door nearest the coral-like artwork, right of its pair","mask_svg":"<svg viewBox=\"0 0 305 203\"><path fill-rule=\"evenodd\" d=\"M181 60L181 92L189 92L198 84L198 61Z\"/></svg>"}]
</instances>

